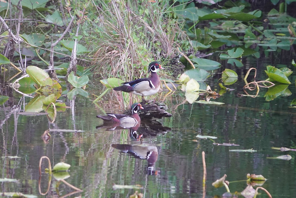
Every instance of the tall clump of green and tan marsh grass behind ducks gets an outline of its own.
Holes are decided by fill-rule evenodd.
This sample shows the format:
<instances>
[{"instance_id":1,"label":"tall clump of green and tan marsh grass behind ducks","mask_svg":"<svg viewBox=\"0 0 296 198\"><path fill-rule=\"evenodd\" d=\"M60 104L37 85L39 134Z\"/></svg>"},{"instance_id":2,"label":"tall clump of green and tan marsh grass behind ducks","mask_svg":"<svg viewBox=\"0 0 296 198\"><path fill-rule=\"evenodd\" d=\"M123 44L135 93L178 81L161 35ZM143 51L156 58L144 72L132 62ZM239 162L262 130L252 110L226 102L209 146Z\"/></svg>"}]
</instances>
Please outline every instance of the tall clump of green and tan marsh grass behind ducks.
<instances>
[{"instance_id":1,"label":"tall clump of green and tan marsh grass behind ducks","mask_svg":"<svg viewBox=\"0 0 296 198\"><path fill-rule=\"evenodd\" d=\"M98 1L99 17L92 23L97 50L93 64L99 78L125 81L146 77L154 60L166 65L187 38L168 10L167 1ZM167 77L169 73L162 73Z\"/></svg>"}]
</instances>

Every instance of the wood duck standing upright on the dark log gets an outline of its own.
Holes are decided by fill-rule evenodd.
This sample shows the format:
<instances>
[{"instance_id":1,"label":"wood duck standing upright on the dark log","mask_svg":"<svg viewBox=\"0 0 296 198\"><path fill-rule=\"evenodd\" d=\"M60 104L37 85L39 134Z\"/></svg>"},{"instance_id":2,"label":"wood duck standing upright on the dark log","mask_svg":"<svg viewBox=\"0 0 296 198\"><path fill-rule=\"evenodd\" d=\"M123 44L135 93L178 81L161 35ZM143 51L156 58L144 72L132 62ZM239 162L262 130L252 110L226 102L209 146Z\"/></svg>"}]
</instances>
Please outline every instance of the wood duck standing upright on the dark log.
<instances>
[{"instance_id":1,"label":"wood duck standing upright on the dark log","mask_svg":"<svg viewBox=\"0 0 296 198\"><path fill-rule=\"evenodd\" d=\"M123 85L119 87L114 87L115 91L131 92L136 95L142 96L142 101L144 101L144 96L153 95L158 92L160 88L160 78L156 73L158 69L163 69L160 62L153 61L149 64L148 73L151 71L150 78L140 78L131 82L124 82Z\"/></svg>"}]
</instances>

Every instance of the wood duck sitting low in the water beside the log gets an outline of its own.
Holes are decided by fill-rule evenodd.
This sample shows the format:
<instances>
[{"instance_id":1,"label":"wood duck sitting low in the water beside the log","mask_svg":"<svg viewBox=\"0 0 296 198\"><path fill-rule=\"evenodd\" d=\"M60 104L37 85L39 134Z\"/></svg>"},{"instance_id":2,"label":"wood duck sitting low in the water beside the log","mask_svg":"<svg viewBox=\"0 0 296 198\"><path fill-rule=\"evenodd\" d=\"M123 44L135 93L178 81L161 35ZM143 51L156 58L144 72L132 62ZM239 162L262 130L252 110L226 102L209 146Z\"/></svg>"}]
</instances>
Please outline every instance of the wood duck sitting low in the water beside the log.
<instances>
[{"instance_id":1,"label":"wood duck sitting low in the water beside the log","mask_svg":"<svg viewBox=\"0 0 296 198\"><path fill-rule=\"evenodd\" d=\"M141 122L141 119L138 115L138 110L144 109L140 103L133 103L131 106L131 116L125 114L107 114L107 116L97 115L97 118L103 119L105 122L119 122L122 123L131 123L136 124Z\"/></svg>"}]
</instances>

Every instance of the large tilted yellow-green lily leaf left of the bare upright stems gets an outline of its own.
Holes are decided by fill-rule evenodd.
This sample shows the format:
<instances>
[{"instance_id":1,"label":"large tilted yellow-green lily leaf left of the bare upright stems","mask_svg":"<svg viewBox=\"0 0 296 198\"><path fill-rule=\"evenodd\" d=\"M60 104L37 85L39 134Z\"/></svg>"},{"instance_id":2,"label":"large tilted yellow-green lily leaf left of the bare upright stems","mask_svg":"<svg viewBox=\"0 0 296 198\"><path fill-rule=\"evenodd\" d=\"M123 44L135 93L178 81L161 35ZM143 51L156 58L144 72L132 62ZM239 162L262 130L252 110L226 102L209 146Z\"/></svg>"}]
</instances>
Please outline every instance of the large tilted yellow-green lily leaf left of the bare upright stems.
<instances>
[{"instance_id":1,"label":"large tilted yellow-green lily leaf left of the bare upright stems","mask_svg":"<svg viewBox=\"0 0 296 198\"><path fill-rule=\"evenodd\" d=\"M41 68L30 65L26 68L26 72L33 79L33 81L39 86L46 86L46 85L51 86L53 84L52 79Z\"/></svg>"}]
</instances>

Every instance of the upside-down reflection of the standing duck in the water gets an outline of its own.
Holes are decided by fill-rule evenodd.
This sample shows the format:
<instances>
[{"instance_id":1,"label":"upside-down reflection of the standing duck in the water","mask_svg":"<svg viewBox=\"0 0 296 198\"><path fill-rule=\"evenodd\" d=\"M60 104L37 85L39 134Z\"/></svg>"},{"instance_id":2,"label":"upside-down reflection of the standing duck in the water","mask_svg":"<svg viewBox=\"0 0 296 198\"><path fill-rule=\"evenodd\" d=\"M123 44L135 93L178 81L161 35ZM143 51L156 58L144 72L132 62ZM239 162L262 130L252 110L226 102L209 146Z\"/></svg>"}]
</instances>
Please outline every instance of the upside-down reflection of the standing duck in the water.
<instances>
[{"instance_id":1,"label":"upside-down reflection of the standing duck in the water","mask_svg":"<svg viewBox=\"0 0 296 198\"><path fill-rule=\"evenodd\" d=\"M157 175L159 170L155 170L154 165L158 158L157 147L149 143L135 143L135 144L112 144L113 148L120 150L120 152L128 153L135 158L147 159L148 165L145 167L147 175Z\"/></svg>"}]
</instances>

